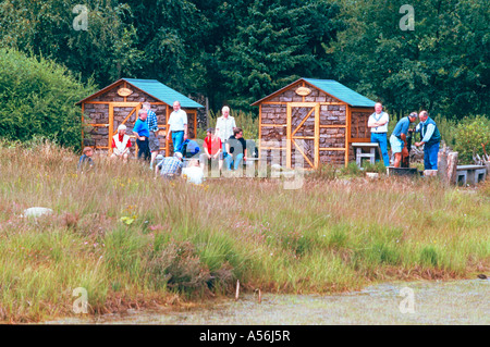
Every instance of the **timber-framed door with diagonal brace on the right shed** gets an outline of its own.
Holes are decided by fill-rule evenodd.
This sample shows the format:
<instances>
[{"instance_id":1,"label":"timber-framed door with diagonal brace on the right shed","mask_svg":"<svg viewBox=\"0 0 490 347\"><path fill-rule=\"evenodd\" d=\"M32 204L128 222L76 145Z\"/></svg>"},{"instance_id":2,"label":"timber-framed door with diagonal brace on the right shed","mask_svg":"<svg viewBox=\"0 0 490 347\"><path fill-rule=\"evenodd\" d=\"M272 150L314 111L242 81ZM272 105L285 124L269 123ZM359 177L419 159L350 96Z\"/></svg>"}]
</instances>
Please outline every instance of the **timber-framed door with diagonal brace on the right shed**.
<instances>
[{"instance_id":1,"label":"timber-framed door with diagonal brace on the right shed","mask_svg":"<svg viewBox=\"0 0 490 347\"><path fill-rule=\"evenodd\" d=\"M320 104L287 104L286 166L316 169L319 163Z\"/></svg>"}]
</instances>

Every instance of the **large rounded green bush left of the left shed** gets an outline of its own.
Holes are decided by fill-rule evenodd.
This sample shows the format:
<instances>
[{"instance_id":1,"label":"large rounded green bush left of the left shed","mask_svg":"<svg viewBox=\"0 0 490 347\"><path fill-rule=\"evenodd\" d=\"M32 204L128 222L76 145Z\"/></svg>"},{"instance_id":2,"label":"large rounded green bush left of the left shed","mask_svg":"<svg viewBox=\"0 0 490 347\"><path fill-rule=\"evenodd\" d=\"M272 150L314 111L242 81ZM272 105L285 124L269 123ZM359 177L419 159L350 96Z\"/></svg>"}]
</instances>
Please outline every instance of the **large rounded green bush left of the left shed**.
<instances>
[{"instance_id":1,"label":"large rounded green bush left of the left shed","mask_svg":"<svg viewBox=\"0 0 490 347\"><path fill-rule=\"evenodd\" d=\"M9 140L45 137L78 149L81 109L75 102L95 91L66 67L44 58L0 49L0 128Z\"/></svg>"}]
</instances>

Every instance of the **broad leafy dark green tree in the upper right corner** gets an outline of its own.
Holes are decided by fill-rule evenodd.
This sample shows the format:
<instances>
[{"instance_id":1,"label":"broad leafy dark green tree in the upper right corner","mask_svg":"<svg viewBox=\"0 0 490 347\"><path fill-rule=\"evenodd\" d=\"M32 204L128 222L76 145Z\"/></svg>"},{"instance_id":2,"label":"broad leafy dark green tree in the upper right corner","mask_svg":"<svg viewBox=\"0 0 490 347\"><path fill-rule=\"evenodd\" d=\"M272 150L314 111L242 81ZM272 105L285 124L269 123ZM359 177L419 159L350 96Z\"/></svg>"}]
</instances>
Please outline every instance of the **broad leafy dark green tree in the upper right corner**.
<instances>
[{"instance_id":1,"label":"broad leafy dark green tree in the upper right corner","mask_svg":"<svg viewBox=\"0 0 490 347\"><path fill-rule=\"evenodd\" d=\"M342 0L347 28L326 47L339 79L400 117L428 109L448 116L487 113L489 24L483 0L424 0L414 30L402 30L403 0Z\"/></svg>"}]
</instances>

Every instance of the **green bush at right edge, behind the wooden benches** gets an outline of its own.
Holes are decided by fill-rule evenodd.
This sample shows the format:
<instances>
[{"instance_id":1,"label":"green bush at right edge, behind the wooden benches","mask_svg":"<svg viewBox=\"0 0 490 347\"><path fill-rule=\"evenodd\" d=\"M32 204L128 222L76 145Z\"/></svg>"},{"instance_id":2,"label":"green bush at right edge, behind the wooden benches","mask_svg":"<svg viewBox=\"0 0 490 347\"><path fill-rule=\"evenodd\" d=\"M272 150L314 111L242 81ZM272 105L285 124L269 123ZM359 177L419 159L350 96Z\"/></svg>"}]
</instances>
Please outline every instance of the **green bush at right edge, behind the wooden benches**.
<instances>
[{"instance_id":1,"label":"green bush at right edge, behind the wooden benches","mask_svg":"<svg viewBox=\"0 0 490 347\"><path fill-rule=\"evenodd\" d=\"M490 152L490 120L483 115L463 119L455 128L454 150L458 152L458 162L473 164L474 153L483 154L481 145L487 144L487 153Z\"/></svg>"}]
</instances>

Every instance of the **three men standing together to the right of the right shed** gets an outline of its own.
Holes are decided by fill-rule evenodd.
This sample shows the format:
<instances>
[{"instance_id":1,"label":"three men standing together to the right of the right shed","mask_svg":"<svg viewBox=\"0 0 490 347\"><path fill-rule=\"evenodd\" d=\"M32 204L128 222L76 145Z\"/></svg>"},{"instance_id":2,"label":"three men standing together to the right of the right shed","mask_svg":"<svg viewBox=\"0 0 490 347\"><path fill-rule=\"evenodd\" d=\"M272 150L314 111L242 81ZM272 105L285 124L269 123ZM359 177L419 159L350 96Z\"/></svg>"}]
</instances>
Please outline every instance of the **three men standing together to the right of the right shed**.
<instances>
[{"instance_id":1,"label":"three men standing together to the right of the right shed","mask_svg":"<svg viewBox=\"0 0 490 347\"><path fill-rule=\"evenodd\" d=\"M419 117L420 122L415 129L411 129L411 123ZM390 165L390 157L388 156L388 123L389 114L383 111L380 102L375 104L375 112L369 116L368 127L371 131L371 142L379 145L381 156L385 166ZM407 137L409 133L420 133L421 140L415 142L416 147L424 146L424 169L438 170L438 152L441 142L441 133L436 122L429 116L427 111L420 113L412 112L407 116L402 117L395 125L390 136L390 145L394 154L393 166L400 168L404 158L409 156L407 148Z\"/></svg>"}]
</instances>

